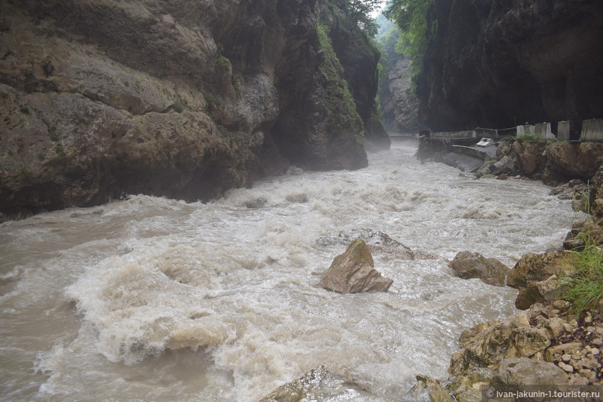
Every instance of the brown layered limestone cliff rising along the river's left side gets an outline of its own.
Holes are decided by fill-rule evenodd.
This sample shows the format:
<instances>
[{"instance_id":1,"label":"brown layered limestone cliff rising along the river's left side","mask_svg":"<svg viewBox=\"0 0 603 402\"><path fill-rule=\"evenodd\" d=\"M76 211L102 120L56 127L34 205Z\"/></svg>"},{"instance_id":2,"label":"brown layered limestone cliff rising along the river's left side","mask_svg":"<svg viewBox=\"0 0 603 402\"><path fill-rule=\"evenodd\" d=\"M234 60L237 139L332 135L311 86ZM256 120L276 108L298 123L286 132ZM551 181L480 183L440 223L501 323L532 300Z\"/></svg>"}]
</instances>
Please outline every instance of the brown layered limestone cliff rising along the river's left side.
<instances>
[{"instance_id":1,"label":"brown layered limestone cliff rising along the river's left side","mask_svg":"<svg viewBox=\"0 0 603 402\"><path fill-rule=\"evenodd\" d=\"M207 200L289 164L366 166L378 53L358 52L353 82L346 60L326 76L329 13L324 0L0 1L3 219L133 193ZM333 82L352 97L329 101Z\"/></svg>"}]
</instances>

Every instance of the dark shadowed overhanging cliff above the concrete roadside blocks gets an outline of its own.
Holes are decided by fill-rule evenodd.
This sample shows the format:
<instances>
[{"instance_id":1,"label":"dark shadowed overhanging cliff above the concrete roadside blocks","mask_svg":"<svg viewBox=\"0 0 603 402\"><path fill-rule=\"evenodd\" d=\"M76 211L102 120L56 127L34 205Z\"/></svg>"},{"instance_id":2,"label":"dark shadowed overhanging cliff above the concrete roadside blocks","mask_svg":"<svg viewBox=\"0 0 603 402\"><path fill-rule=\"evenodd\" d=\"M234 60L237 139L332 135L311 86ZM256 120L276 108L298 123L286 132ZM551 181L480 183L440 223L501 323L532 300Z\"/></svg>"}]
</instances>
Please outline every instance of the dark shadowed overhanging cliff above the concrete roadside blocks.
<instances>
[{"instance_id":1,"label":"dark shadowed overhanging cliff above the concrete roadside blocks","mask_svg":"<svg viewBox=\"0 0 603 402\"><path fill-rule=\"evenodd\" d=\"M437 0L419 76L433 130L592 119L603 110L603 3Z\"/></svg>"}]
</instances>

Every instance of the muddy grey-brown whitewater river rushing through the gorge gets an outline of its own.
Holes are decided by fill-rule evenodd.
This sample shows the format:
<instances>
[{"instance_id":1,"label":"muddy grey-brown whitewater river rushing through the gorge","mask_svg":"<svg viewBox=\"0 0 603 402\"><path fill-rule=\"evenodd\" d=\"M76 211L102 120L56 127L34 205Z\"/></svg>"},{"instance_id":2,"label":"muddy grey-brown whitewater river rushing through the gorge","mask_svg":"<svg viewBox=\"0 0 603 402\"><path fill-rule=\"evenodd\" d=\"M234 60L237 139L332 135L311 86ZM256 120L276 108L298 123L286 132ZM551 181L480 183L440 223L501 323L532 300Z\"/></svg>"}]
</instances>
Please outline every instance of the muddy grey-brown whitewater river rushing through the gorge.
<instances>
[{"instance_id":1,"label":"muddy grey-brown whitewater river rushing through the gorge","mask_svg":"<svg viewBox=\"0 0 603 402\"><path fill-rule=\"evenodd\" d=\"M0 225L4 401L257 401L338 363L376 397L447 378L464 329L516 313L516 290L451 276L469 250L512 268L559 247L575 213L550 188L420 164L413 144L360 171L292 170L224 198L132 196ZM356 233L389 292L315 288ZM375 399L378 398L378 399Z\"/></svg>"}]
</instances>

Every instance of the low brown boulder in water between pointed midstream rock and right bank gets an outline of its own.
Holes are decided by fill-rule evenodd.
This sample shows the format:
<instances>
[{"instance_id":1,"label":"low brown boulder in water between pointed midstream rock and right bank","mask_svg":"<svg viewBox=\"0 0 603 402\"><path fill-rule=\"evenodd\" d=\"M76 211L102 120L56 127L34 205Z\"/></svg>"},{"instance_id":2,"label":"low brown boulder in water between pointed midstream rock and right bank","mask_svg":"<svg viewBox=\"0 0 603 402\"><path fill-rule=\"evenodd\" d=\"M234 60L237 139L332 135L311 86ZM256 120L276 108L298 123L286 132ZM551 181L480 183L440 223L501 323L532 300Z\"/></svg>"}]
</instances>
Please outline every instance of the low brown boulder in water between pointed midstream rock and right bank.
<instances>
[{"instance_id":1,"label":"low brown boulder in water between pointed midstream rock and right bank","mask_svg":"<svg viewBox=\"0 0 603 402\"><path fill-rule=\"evenodd\" d=\"M509 268L497 259L487 259L480 253L460 252L449 264L456 277L479 278L494 286L505 286Z\"/></svg>"}]
</instances>

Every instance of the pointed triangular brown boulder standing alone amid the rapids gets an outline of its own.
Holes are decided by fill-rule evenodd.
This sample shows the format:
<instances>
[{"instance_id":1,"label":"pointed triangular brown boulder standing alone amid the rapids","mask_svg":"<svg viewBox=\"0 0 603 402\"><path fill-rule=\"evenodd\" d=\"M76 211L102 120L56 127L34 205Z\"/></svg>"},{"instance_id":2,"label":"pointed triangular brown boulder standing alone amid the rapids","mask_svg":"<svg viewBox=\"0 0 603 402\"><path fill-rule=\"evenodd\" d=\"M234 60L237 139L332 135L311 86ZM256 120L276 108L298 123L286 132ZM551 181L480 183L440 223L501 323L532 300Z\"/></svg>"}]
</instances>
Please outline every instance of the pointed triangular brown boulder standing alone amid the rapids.
<instances>
[{"instance_id":1,"label":"pointed triangular brown boulder standing alone amid the rapids","mask_svg":"<svg viewBox=\"0 0 603 402\"><path fill-rule=\"evenodd\" d=\"M394 281L381 276L374 266L367 243L357 238L335 257L316 287L338 293L387 292Z\"/></svg>"}]
</instances>

